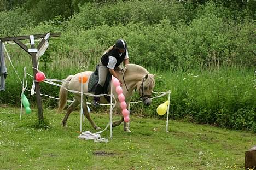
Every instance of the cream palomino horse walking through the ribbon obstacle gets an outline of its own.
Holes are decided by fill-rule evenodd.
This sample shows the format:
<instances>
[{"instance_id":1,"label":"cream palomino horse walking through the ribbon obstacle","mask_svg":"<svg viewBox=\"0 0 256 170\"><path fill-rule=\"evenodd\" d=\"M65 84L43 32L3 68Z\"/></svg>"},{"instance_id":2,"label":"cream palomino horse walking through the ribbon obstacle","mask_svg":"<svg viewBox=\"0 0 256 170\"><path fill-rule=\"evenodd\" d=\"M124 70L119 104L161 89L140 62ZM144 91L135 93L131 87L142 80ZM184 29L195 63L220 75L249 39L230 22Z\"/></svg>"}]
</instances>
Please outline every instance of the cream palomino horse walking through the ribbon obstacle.
<instances>
[{"instance_id":1,"label":"cream palomino horse walking through the ribbon obstacle","mask_svg":"<svg viewBox=\"0 0 256 170\"><path fill-rule=\"evenodd\" d=\"M86 75L86 77L88 77L88 80L89 80L90 75L92 73L93 72L91 71L85 71L85 72L77 73L75 75L69 75L66 78L66 80L62 83L62 86L60 88L59 108L57 110L57 113L60 113L65 108L67 103L68 91L65 90L65 88L69 90L80 91L81 83L79 83L78 78L80 76ZM150 97L151 97L152 90L155 87L155 79L153 74L149 74L149 72L142 66L129 64L129 65L126 65L126 71L118 73L118 78L123 83L123 87L122 87L123 95L125 96L125 102L127 106L130 104L131 96L133 95L135 89L137 89L139 95L143 99L144 105L151 104L152 100ZM110 93L110 90L111 88L109 88L109 93ZM86 83L83 84L83 92L88 93L88 81L86 81ZM118 94L115 92L115 90L113 90L113 95L115 98L118 98ZM71 114L71 112L75 109L75 107L81 101L80 97L81 97L80 93L74 93L74 102L71 105L69 105L67 109L67 113L61 122L62 126L66 126L69 114ZM100 127L98 127L95 124L95 122L90 118L87 105L86 105L87 99L92 99L92 97L91 96L83 97L83 111L84 111L83 113L91 123L92 127L94 127L96 130L100 130ZM106 104L108 102L103 96L100 98L100 103ZM118 112L121 113L122 110L121 110L120 102L118 101L118 99L117 99L116 107ZM123 121L124 121L124 118L122 116L120 120L113 122L112 127L120 125ZM126 122L124 122L124 131L131 132Z\"/></svg>"}]
</instances>

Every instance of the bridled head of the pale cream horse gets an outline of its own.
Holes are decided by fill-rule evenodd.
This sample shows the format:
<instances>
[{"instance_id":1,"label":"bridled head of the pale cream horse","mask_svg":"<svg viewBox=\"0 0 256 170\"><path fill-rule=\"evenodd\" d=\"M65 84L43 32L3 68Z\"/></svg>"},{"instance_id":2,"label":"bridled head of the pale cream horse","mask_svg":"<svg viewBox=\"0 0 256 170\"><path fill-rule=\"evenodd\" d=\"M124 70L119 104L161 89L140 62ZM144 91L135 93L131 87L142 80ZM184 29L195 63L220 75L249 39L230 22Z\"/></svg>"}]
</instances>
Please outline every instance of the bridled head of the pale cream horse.
<instances>
[{"instance_id":1,"label":"bridled head of the pale cream horse","mask_svg":"<svg viewBox=\"0 0 256 170\"><path fill-rule=\"evenodd\" d=\"M144 105L150 105L152 102L151 95L155 87L155 79L153 74L146 74L137 85L139 96L143 99Z\"/></svg>"}]
</instances>

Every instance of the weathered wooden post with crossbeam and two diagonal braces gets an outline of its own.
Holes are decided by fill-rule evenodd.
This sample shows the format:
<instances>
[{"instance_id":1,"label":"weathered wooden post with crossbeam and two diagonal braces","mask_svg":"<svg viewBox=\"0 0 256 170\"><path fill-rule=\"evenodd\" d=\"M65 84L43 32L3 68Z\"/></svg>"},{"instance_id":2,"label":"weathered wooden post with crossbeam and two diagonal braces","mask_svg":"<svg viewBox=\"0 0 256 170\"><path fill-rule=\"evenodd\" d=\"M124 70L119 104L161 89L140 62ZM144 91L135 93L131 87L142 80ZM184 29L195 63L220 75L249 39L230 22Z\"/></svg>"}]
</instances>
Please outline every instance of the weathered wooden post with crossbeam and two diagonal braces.
<instances>
[{"instance_id":1,"label":"weathered wooden post with crossbeam and two diagonal braces","mask_svg":"<svg viewBox=\"0 0 256 170\"><path fill-rule=\"evenodd\" d=\"M50 37L59 37L61 33L50 33ZM5 38L0 38L2 42L7 42L7 41L14 41L16 44L18 44L22 49L24 49L28 54L31 55L32 58L32 65L34 68L37 68L37 57L36 54L37 52L42 48L43 44L45 43L46 39L44 37L47 35L45 34L35 34L35 35L30 35L30 36L18 36L18 37L5 37ZM37 38L43 38L40 43L38 44L37 48L35 47L34 44L34 39ZM25 40L29 39L30 40L30 47L28 48L24 43L22 43L20 40ZM33 74L34 77L36 77L37 74L37 69L33 69ZM37 109L38 109L38 119L39 121L44 120L44 115L43 115L43 107L42 107L42 101L41 101L41 96L40 96L40 86L39 82L35 82L35 90L36 90L36 99L37 99Z\"/></svg>"}]
</instances>

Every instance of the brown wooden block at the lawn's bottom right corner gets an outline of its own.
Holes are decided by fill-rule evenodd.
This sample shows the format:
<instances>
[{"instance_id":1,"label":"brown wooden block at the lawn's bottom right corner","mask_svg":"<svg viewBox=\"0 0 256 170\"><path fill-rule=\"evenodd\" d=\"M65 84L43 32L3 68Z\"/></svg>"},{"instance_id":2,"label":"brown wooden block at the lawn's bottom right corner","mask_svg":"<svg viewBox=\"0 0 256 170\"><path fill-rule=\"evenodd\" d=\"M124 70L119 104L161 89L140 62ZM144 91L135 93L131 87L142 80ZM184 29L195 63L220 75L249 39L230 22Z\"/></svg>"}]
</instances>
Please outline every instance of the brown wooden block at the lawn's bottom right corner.
<instances>
[{"instance_id":1,"label":"brown wooden block at the lawn's bottom right corner","mask_svg":"<svg viewBox=\"0 0 256 170\"><path fill-rule=\"evenodd\" d=\"M256 169L256 146L245 153L245 169Z\"/></svg>"}]
</instances>

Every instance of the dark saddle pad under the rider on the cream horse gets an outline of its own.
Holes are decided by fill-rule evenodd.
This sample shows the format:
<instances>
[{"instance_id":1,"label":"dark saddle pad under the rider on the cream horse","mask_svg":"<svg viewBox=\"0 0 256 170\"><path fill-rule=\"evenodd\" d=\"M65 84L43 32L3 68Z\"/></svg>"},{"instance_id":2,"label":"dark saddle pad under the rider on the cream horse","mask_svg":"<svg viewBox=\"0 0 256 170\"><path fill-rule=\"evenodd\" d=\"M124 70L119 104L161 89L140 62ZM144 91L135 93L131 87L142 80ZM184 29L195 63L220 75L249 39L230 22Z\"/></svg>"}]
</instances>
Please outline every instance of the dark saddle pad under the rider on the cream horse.
<instances>
[{"instance_id":1,"label":"dark saddle pad under the rider on the cream horse","mask_svg":"<svg viewBox=\"0 0 256 170\"><path fill-rule=\"evenodd\" d=\"M95 92L96 85L98 84L98 65L96 66L96 70L91 74L89 82L88 82L88 92ZM111 74L107 75L105 84L103 86L104 93L108 93L109 83L111 80Z\"/></svg>"}]
</instances>

